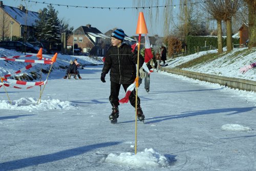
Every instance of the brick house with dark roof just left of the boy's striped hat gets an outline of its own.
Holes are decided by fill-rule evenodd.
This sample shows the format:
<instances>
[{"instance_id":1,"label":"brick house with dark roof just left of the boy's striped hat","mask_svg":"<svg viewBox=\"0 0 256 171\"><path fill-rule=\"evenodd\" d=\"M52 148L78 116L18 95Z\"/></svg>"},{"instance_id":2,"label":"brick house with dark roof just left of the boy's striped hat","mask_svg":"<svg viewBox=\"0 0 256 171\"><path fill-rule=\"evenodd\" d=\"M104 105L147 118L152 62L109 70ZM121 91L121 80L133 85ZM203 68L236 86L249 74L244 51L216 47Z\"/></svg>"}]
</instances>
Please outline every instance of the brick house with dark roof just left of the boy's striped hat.
<instances>
[{"instance_id":1,"label":"brick house with dark roof just left of the boy's striped hat","mask_svg":"<svg viewBox=\"0 0 256 171\"><path fill-rule=\"evenodd\" d=\"M74 42L73 42L74 41ZM80 26L73 35L67 40L68 46L81 49L81 53L90 53L91 55L104 56L110 46L110 37L101 33L97 28L91 25Z\"/></svg>"}]
</instances>

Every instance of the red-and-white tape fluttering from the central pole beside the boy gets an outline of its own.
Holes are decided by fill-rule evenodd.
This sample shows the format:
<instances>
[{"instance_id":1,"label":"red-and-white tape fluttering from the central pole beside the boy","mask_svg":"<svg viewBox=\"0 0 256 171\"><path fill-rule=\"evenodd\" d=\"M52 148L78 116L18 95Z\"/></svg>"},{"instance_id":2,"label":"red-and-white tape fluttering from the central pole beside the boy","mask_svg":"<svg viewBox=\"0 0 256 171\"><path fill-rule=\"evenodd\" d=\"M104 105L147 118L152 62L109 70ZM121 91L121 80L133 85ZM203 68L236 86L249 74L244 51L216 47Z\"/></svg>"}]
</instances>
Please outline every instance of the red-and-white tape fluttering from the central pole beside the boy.
<instances>
[{"instance_id":1,"label":"red-and-white tape fluttering from the central pole beside the boy","mask_svg":"<svg viewBox=\"0 0 256 171\"><path fill-rule=\"evenodd\" d=\"M135 43L132 45L133 51L135 50L136 46L138 43ZM138 52L139 53L139 52ZM144 63L142 65L142 68L147 72L147 74L151 74L150 70L147 68L146 63L149 62L153 58L153 54L151 51L151 46L150 46L150 39L148 38L147 34L145 34L145 51L144 51ZM131 92L134 90L136 87L136 79L133 84L131 84L127 89L125 96L123 99L119 100L119 103L127 103L129 102L129 96Z\"/></svg>"}]
</instances>

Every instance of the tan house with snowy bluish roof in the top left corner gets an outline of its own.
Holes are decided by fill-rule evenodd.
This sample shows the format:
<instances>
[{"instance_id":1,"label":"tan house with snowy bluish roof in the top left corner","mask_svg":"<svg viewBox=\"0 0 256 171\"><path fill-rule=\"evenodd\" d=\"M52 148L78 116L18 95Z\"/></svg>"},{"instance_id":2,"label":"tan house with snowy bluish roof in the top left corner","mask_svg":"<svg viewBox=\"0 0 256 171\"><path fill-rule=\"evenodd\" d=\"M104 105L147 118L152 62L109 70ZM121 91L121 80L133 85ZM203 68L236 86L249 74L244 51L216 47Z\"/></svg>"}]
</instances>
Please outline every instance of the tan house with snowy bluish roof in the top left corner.
<instances>
[{"instance_id":1,"label":"tan house with snowy bluish roof in the top left corner","mask_svg":"<svg viewBox=\"0 0 256 171\"><path fill-rule=\"evenodd\" d=\"M39 13L28 11L23 5L18 8L6 6L0 1L0 39L17 36L30 37L34 35L33 25Z\"/></svg>"}]
</instances>

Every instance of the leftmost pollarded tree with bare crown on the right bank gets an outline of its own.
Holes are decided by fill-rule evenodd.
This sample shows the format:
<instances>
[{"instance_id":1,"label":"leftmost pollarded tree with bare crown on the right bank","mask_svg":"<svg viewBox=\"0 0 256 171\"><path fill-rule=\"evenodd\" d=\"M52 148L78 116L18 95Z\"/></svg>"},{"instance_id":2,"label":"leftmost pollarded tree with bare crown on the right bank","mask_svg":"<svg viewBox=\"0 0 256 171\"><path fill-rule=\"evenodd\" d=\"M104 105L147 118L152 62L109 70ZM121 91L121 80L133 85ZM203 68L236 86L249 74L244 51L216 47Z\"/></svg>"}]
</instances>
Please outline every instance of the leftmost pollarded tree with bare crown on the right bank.
<instances>
[{"instance_id":1,"label":"leftmost pollarded tree with bare crown on the right bank","mask_svg":"<svg viewBox=\"0 0 256 171\"><path fill-rule=\"evenodd\" d=\"M218 37L218 53L223 52L222 48L222 24L221 21L223 19L224 11L223 4L221 0L214 1L203 1L201 0L201 5L204 11L206 11L211 18L217 20L217 37Z\"/></svg>"}]
</instances>

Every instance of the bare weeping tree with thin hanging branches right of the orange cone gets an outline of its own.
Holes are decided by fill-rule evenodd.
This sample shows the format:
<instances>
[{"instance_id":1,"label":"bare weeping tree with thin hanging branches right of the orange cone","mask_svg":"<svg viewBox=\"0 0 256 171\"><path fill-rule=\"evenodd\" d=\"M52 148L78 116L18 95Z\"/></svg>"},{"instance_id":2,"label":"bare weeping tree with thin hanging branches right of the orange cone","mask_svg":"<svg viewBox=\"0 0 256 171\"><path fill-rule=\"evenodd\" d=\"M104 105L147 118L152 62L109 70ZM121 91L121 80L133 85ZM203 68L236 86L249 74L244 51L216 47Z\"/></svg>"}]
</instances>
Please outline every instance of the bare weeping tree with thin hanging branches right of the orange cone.
<instances>
[{"instance_id":1,"label":"bare weeping tree with thin hanging branches right of the orange cone","mask_svg":"<svg viewBox=\"0 0 256 171\"><path fill-rule=\"evenodd\" d=\"M163 24L164 35L169 35L170 28L182 28L182 37L186 41L186 36L191 31L191 21L195 20L195 17L200 16L198 11L195 11L195 3L193 0L180 0L179 4L174 4L174 1L167 0L164 3L164 8L161 8L163 12L160 14L159 8L149 9L151 6L158 7L162 1L159 0L134 0L134 5L137 7L143 7L143 12L150 19L151 26L152 23ZM177 3L177 2L175 2ZM179 7L179 14L174 13L174 10ZM141 9L139 9L141 10ZM177 9L176 9L177 11ZM178 16L178 20L177 20ZM163 21L163 23L159 23ZM176 24L177 23L177 24Z\"/></svg>"}]
</instances>

